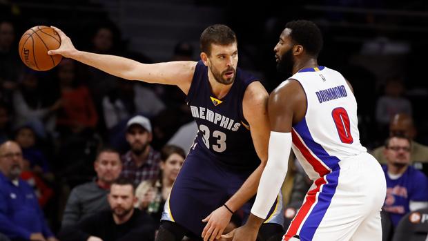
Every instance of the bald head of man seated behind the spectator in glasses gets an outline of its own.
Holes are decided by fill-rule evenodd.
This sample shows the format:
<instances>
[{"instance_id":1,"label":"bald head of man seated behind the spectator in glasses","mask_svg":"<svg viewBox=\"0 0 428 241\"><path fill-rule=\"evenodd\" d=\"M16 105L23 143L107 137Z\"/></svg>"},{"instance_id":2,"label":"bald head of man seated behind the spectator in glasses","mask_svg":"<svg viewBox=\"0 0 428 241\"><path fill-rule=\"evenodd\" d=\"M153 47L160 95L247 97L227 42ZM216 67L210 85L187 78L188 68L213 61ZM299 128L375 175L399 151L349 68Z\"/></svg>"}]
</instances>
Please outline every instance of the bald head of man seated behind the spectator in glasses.
<instances>
[{"instance_id":1,"label":"bald head of man seated behind the spectator in glasses","mask_svg":"<svg viewBox=\"0 0 428 241\"><path fill-rule=\"evenodd\" d=\"M394 135L404 135L409 139L414 139L416 129L410 115L398 113L392 117L391 122L389 122L389 136Z\"/></svg>"}]
</instances>

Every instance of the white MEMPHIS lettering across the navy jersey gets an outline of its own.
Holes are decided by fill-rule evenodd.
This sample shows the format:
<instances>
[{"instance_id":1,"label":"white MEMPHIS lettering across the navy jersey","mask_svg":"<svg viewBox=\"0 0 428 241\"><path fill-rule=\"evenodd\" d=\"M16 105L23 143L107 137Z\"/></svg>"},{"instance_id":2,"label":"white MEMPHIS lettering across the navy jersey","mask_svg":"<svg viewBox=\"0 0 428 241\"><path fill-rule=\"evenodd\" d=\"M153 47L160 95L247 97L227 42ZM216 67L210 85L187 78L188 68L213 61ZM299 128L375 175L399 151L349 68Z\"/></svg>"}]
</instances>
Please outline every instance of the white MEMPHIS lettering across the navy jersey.
<instances>
[{"instance_id":1,"label":"white MEMPHIS lettering across the navy jersey","mask_svg":"<svg viewBox=\"0 0 428 241\"><path fill-rule=\"evenodd\" d=\"M213 122L216 125L222 126L231 131L237 131L241 124L235 120L215 113L213 110L204 107L191 106L192 116L195 118L206 119L208 122Z\"/></svg>"}]
</instances>

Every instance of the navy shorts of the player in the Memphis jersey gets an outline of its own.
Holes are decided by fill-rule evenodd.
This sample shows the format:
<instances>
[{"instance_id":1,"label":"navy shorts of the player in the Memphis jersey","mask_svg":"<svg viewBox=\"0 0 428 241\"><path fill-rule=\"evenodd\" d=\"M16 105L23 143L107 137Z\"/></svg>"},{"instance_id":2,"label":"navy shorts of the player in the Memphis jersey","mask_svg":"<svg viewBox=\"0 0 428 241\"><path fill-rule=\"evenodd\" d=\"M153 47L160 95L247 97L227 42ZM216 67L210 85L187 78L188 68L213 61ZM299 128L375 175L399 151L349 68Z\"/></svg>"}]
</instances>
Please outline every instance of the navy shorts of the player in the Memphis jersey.
<instances>
[{"instance_id":1,"label":"navy shorts of the player in the Memphis jersey","mask_svg":"<svg viewBox=\"0 0 428 241\"><path fill-rule=\"evenodd\" d=\"M162 213L162 220L177 222L199 236L206 225L202 220L222 206L253 173L253 170L233 170L208 155L198 146L191 150ZM242 207L244 219L248 217L253 201L254 198ZM280 195L265 222L282 226L284 215Z\"/></svg>"}]
</instances>

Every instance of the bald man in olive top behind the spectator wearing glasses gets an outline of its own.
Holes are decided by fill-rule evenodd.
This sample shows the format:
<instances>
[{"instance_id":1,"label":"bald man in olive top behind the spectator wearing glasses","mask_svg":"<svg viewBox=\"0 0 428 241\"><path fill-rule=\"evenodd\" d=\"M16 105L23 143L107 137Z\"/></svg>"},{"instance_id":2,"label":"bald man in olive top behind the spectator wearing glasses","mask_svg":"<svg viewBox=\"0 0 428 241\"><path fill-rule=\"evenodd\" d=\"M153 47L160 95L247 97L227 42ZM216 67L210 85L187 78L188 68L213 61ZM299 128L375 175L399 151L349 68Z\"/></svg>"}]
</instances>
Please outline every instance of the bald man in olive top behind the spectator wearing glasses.
<instances>
[{"instance_id":1,"label":"bald man in olive top behind the spectator wearing glasses","mask_svg":"<svg viewBox=\"0 0 428 241\"><path fill-rule=\"evenodd\" d=\"M424 146L414 141L416 137L416 128L414 126L413 118L410 115L398 113L394 115L389 123L389 136L405 135L411 139L411 162L425 162L428 163L428 146ZM381 164L387 163L385 157L385 146L379 146L372 152L373 157Z\"/></svg>"}]
</instances>

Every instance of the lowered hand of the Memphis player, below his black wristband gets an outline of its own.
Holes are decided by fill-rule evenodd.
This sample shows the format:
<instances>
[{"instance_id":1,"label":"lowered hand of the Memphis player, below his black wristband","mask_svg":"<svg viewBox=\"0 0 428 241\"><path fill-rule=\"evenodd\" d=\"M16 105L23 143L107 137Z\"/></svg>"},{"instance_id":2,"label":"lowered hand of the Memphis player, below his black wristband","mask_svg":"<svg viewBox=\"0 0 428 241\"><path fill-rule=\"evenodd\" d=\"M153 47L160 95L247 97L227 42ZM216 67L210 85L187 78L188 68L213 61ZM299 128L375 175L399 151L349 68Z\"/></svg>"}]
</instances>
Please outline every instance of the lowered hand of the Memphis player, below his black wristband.
<instances>
[{"instance_id":1,"label":"lowered hand of the Memphis player, below his black wristband","mask_svg":"<svg viewBox=\"0 0 428 241\"><path fill-rule=\"evenodd\" d=\"M208 217L204 218L202 222L206 222L204 231L202 231L202 238L204 241L218 240L223 234L227 224L231 222L232 213L224 206L215 209Z\"/></svg>"}]
</instances>

